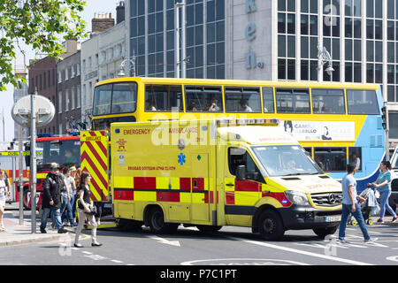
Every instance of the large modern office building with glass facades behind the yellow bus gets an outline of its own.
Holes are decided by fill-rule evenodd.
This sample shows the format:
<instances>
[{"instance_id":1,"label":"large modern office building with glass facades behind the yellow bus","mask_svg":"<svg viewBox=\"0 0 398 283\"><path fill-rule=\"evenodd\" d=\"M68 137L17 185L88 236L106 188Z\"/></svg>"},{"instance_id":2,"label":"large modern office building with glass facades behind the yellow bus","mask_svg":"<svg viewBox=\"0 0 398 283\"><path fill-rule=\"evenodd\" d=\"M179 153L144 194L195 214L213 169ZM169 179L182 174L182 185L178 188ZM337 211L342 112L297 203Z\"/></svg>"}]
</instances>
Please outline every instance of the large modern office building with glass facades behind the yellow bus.
<instances>
[{"instance_id":1,"label":"large modern office building with glass facades behind the yellow bus","mask_svg":"<svg viewBox=\"0 0 398 283\"><path fill-rule=\"evenodd\" d=\"M174 77L178 0L126 1L138 76ZM398 0L185 0L187 77L377 83L398 142ZM318 43L333 73L318 78Z\"/></svg>"}]
</instances>

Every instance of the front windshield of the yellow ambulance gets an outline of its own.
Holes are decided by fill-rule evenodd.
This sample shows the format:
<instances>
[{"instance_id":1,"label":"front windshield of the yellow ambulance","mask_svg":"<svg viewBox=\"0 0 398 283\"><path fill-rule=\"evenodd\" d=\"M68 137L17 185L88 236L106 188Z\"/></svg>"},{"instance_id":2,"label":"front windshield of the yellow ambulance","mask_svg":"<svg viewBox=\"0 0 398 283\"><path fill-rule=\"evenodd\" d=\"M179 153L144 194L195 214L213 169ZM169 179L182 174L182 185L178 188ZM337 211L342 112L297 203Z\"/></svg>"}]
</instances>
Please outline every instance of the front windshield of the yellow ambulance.
<instances>
[{"instance_id":1,"label":"front windshield of the yellow ambulance","mask_svg":"<svg viewBox=\"0 0 398 283\"><path fill-rule=\"evenodd\" d=\"M323 173L298 145L260 146L252 149L270 177Z\"/></svg>"}]
</instances>

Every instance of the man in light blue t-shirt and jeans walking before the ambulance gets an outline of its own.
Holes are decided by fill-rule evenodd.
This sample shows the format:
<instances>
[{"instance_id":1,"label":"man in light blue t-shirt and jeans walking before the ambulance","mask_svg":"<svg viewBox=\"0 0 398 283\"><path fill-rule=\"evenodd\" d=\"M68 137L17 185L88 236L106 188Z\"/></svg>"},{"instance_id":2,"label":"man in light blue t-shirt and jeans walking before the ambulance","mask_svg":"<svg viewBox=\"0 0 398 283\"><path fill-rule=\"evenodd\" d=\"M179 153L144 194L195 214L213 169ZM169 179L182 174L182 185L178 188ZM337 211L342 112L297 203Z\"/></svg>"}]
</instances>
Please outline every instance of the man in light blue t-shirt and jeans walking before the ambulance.
<instances>
[{"instance_id":1,"label":"man in light blue t-shirt and jeans walking before the ambulance","mask_svg":"<svg viewBox=\"0 0 398 283\"><path fill-rule=\"evenodd\" d=\"M354 175L356 173L356 164L348 164L347 165L347 175L341 180L342 187L342 213L341 213L341 223L339 228L339 241L341 243L349 243L345 240L346 235L346 227L347 220L349 214L352 214L354 218L356 218L356 222L361 228L362 233L364 234L364 242L369 243L373 241L377 241L377 238L371 238L368 233L368 229L366 228L364 217L361 212L361 207L359 206L356 199L360 199L361 201L365 201L364 197L360 195L356 195L356 179Z\"/></svg>"}]
</instances>

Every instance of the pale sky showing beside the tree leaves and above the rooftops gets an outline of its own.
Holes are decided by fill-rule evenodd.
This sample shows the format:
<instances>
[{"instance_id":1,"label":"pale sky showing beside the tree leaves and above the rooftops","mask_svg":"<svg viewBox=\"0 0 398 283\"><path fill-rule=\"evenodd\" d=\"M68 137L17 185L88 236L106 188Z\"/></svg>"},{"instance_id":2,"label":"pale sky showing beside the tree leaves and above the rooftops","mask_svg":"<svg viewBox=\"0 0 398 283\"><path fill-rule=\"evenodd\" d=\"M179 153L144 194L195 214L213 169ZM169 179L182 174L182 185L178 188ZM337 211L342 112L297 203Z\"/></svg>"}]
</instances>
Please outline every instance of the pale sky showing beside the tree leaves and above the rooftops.
<instances>
[{"instance_id":1,"label":"pale sky showing beside the tree leaves and above the rooftops","mask_svg":"<svg viewBox=\"0 0 398 283\"><path fill-rule=\"evenodd\" d=\"M116 6L119 4L119 0L86 0L86 8L81 13L81 17L87 22L87 31L91 31L91 19L94 18L94 13L105 13L111 12L112 18L116 21ZM83 41L88 40L87 38ZM26 64L29 63L29 59L34 59L34 52L31 48L24 48L27 57ZM17 55L17 65L24 65L23 56L19 53ZM7 90L0 92L0 99L3 103L0 103L0 118L4 111L4 128L3 123L0 123L0 141L3 142L3 133L5 135L5 142L11 142L14 138L14 120L11 118L11 109L13 105L13 91L12 85L7 85ZM2 121L1 121L2 122ZM4 131L4 132L3 132Z\"/></svg>"}]
</instances>

